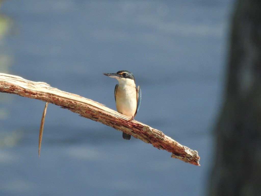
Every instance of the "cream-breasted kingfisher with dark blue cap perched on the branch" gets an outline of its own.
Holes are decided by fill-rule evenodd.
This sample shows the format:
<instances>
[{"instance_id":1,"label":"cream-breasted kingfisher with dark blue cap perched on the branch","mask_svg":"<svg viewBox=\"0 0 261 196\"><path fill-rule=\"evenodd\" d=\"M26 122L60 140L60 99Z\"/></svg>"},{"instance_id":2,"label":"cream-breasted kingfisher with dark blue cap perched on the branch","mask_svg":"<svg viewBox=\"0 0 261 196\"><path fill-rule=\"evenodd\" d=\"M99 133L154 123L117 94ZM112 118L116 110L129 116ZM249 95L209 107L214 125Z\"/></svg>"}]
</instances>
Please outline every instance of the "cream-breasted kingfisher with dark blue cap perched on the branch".
<instances>
[{"instance_id":1,"label":"cream-breasted kingfisher with dark blue cap perched on the branch","mask_svg":"<svg viewBox=\"0 0 261 196\"><path fill-rule=\"evenodd\" d=\"M119 81L119 84L116 84L114 89L117 111L131 117L131 120L133 120L139 110L141 100L140 86L138 86L138 89L136 88L133 74L129 71L121 70L117 73L104 73L104 75L116 78ZM131 139L131 135L124 132L122 132L122 137L125 140Z\"/></svg>"}]
</instances>

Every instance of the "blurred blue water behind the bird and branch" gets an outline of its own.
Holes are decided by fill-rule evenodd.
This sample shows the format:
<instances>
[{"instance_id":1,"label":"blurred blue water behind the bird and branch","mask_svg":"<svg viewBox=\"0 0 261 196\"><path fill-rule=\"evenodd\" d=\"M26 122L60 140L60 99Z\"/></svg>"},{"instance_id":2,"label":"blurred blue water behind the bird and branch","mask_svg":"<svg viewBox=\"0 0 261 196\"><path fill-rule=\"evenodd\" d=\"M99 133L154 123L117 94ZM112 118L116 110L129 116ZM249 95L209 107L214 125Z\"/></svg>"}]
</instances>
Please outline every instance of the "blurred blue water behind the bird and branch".
<instances>
[{"instance_id":1,"label":"blurred blue water behind the bird and branch","mask_svg":"<svg viewBox=\"0 0 261 196\"><path fill-rule=\"evenodd\" d=\"M116 109L116 79L142 90L136 120L198 151L201 166L49 104L0 93L0 195L206 193L233 0L3 1L0 72Z\"/></svg>"}]
</instances>

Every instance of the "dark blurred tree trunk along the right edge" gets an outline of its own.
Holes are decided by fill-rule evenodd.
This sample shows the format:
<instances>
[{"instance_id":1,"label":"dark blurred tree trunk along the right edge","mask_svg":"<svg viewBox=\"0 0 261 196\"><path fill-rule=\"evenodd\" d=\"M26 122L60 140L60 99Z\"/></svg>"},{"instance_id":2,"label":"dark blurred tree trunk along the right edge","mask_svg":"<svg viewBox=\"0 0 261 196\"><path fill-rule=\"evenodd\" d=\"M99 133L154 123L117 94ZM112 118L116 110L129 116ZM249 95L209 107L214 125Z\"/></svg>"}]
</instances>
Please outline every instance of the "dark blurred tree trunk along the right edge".
<instances>
[{"instance_id":1,"label":"dark blurred tree trunk along the right edge","mask_svg":"<svg viewBox=\"0 0 261 196\"><path fill-rule=\"evenodd\" d=\"M211 196L261 195L261 0L239 0L226 97L216 127Z\"/></svg>"}]
</instances>

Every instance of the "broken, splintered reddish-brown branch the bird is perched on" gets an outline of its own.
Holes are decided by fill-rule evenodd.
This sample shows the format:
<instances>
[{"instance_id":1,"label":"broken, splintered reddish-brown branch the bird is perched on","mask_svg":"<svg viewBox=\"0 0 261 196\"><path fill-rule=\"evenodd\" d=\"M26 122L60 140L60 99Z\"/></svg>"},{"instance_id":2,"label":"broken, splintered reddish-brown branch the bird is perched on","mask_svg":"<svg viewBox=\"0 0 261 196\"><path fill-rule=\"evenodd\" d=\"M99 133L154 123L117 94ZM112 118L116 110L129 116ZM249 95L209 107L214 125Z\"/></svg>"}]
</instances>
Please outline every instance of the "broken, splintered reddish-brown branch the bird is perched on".
<instances>
[{"instance_id":1,"label":"broken, splintered reddish-brown branch the bird is perched on","mask_svg":"<svg viewBox=\"0 0 261 196\"><path fill-rule=\"evenodd\" d=\"M39 99L80 114L82 117L98 121L119 131L138 138L152 146L171 152L171 157L199 165L198 152L182 146L161 131L130 119L101 103L79 95L67 93L44 82L33 82L19 76L0 73L0 92L14 93L23 97Z\"/></svg>"}]
</instances>

